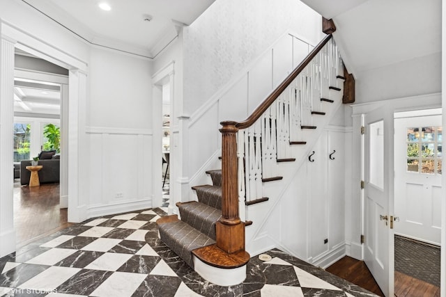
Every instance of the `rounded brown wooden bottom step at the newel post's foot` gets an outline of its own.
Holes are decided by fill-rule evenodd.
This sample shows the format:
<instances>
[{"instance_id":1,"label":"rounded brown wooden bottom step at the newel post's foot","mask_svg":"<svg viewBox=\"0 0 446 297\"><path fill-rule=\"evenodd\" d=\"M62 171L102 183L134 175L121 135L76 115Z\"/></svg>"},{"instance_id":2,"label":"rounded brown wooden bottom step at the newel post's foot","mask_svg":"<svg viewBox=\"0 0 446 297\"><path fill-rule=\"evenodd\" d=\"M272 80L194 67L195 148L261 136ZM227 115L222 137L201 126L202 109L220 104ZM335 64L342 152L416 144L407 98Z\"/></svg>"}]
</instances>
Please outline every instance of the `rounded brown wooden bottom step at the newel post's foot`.
<instances>
[{"instance_id":1,"label":"rounded brown wooden bottom step at the newel post's foot","mask_svg":"<svg viewBox=\"0 0 446 297\"><path fill-rule=\"evenodd\" d=\"M220 250L215 244L192 250L192 254L210 266L224 269L238 268L246 265L250 257L245 250L229 254Z\"/></svg>"}]
</instances>

